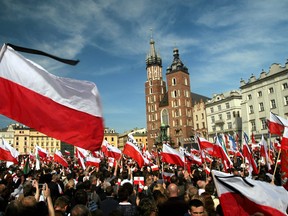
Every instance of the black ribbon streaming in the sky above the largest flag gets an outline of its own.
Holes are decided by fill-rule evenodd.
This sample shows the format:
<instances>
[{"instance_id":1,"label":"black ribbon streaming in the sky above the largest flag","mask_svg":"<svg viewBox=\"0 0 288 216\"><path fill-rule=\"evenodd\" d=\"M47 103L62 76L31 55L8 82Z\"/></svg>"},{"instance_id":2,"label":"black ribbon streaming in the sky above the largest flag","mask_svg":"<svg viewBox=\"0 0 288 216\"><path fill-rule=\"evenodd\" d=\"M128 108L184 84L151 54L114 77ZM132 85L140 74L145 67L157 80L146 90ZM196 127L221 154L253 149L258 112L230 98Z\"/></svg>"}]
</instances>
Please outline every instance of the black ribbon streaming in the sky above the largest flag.
<instances>
[{"instance_id":1,"label":"black ribbon streaming in the sky above the largest flag","mask_svg":"<svg viewBox=\"0 0 288 216\"><path fill-rule=\"evenodd\" d=\"M52 59L55 59L57 61L60 61L60 62L65 63L65 64L69 64L69 65L76 65L79 62L79 60L69 60L69 59L59 58L57 56L51 55L49 53L45 53L45 52L40 51L40 50L30 49L30 48L26 48L26 47L20 47L20 46L16 46L16 45L13 45L10 43L7 43L7 45L12 47L16 51L19 51L19 52L26 52L26 53L30 53L30 54L47 56L47 57L50 57Z\"/></svg>"}]
</instances>

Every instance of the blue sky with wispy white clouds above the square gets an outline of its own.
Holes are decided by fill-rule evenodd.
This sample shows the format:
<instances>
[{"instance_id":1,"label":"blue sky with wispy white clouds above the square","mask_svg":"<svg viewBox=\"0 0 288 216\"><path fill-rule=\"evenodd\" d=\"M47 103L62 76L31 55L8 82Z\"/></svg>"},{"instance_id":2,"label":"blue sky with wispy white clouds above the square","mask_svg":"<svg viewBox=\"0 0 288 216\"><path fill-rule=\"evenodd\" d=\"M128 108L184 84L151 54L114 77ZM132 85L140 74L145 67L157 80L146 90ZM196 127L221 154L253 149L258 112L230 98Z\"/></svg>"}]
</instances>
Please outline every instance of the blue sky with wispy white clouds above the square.
<instances>
[{"instance_id":1,"label":"blue sky with wispy white clouds above the square","mask_svg":"<svg viewBox=\"0 0 288 216\"><path fill-rule=\"evenodd\" d=\"M122 133L146 127L150 29L163 74L177 47L191 91L212 97L286 63L287 8L283 0L2 0L0 43L79 59L69 66L22 53L57 76L96 83L105 126ZM11 122L0 116L0 126Z\"/></svg>"}]
</instances>

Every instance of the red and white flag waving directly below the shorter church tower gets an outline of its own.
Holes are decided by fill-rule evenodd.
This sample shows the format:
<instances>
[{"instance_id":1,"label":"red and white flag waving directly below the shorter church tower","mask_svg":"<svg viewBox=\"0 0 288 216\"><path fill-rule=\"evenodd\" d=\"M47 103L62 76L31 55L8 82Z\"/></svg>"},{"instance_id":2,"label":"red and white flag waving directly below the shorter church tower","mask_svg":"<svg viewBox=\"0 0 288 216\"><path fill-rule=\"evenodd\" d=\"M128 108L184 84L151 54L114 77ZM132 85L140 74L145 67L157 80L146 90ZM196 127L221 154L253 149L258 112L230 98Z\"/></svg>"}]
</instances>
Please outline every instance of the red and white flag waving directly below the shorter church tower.
<instances>
[{"instance_id":1,"label":"red and white flag waving directly below the shorter church tower","mask_svg":"<svg viewBox=\"0 0 288 216\"><path fill-rule=\"evenodd\" d=\"M166 144L163 144L163 150L161 152L162 162L176 164L184 167L185 157L184 154L181 154L176 149L169 147Z\"/></svg>"}]
</instances>

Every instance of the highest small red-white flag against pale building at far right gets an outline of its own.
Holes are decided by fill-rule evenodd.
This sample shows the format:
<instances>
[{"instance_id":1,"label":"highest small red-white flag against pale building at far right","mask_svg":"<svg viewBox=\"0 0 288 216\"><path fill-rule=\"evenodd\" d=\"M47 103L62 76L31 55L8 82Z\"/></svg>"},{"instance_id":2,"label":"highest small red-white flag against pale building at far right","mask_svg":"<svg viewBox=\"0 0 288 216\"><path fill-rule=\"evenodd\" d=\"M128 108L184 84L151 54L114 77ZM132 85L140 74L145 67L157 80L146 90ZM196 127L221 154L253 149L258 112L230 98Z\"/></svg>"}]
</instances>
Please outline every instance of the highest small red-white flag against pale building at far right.
<instances>
[{"instance_id":1,"label":"highest small red-white flag against pale building at far right","mask_svg":"<svg viewBox=\"0 0 288 216\"><path fill-rule=\"evenodd\" d=\"M285 125L288 126L286 119L270 112L270 119L267 120L268 128L271 134L282 136Z\"/></svg>"}]
</instances>

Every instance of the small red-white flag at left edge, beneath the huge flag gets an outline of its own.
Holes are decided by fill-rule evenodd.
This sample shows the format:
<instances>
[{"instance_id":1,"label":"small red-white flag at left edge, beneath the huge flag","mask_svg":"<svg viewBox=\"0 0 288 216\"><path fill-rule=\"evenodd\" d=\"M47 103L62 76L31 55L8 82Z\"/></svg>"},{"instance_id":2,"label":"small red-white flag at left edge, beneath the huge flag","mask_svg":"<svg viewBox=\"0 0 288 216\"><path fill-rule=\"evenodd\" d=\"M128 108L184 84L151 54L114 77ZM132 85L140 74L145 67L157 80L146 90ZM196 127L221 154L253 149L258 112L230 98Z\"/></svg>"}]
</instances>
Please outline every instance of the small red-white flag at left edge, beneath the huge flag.
<instances>
[{"instance_id":1,"label":"small red-white flag at left edge, beneath the huge flag","mask_svg":"<svg viewBox=\"0 0 288 216\"><path fill-rule=\"evenodd\" d=\"M7 143L7 141L3 139L3 137L1 137L0 160L10 161L10 162L13 162L14 164L17 164L18 156L19 156L19 152L16 149L14 149L12 146L10 146L9 143Z\"/></svg>"}]
</instances>

